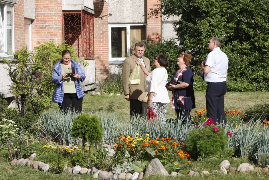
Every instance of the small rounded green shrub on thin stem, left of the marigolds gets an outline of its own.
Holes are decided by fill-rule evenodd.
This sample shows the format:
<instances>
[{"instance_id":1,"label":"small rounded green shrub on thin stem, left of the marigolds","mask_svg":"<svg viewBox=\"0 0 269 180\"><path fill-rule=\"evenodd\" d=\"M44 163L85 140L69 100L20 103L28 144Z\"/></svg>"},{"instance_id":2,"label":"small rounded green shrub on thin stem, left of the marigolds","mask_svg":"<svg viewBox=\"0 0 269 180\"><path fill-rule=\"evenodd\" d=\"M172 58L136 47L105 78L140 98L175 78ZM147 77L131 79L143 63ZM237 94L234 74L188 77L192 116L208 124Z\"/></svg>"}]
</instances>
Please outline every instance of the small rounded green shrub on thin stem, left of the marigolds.
<instances>
[{"instance_id":1,"label":"small rounded green shrub on thin stem, left of the marigolds","mask_svg":"<svg viewBox=\"0 0 269 180\"><path fill-rule=\"evenodd\" d=\"M98 145L103 140L103 130L96 116L88 114L80 114L74 119L72 130L72 138L82 139L82 154L84 154L85 143L89 143L89 147Z\"/></svg>"}]
</instances>

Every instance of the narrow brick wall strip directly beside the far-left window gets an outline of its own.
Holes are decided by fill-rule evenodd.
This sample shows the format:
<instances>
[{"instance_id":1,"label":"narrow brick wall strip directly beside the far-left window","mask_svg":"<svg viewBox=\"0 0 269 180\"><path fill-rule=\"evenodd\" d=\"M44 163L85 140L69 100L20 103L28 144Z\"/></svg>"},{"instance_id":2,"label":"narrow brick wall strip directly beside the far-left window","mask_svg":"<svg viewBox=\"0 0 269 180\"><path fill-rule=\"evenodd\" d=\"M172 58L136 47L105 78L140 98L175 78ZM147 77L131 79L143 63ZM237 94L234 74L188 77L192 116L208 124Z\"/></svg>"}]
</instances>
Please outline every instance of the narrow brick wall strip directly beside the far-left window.
<instances>
[{"instance_id":1,"label":"narrow brick wall strip directly beside the far-left window","mask_svg":"<svg viewBox=\"0 0 269 180\"><path fill-rule=\"evenodd\" d=\"M14 5L14 39L15 51L25 46L24 43L24 1L18 0Z\"/></svg>"}]
</instances>

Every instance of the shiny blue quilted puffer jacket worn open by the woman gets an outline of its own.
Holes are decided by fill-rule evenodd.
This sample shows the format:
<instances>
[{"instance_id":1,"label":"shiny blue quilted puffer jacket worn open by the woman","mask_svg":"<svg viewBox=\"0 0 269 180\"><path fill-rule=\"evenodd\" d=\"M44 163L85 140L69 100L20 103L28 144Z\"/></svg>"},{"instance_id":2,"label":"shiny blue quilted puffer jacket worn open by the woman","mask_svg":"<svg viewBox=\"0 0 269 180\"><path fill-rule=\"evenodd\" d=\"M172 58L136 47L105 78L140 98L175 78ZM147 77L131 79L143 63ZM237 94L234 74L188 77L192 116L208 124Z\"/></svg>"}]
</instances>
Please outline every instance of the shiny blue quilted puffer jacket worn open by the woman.
<instances>
[{"instance_id":1,"label":"shiny blue quilted puffer jacket worn open by the woman","mask_svg":"<svg viewBox=\"0 0 269 180\"><path fill-rule=\"evenodd\" d=\"M60 63L62 63L63 60L60 60L53 69L53 75L52 75L52 82L55 84L54 86L54 93L52 95L52 100L56 103L62 103L63 99L64 99L64 84L63 84L63 80L60 81L61 76L62 76L62 68ZM75 86L76 86L76 93L78 98L82 98L85 96L84 91L80 85L80 82L83 82L85 79L85 74L80 66L80 64L78 62L75 62L73 59L71 59L72 62L72 69L74 69L74 64L76 64L76 71L78 72L78 74L80 75L81 81L79 79L77 79L77 81L75 81Z\"/></svg>"}]
</instances>

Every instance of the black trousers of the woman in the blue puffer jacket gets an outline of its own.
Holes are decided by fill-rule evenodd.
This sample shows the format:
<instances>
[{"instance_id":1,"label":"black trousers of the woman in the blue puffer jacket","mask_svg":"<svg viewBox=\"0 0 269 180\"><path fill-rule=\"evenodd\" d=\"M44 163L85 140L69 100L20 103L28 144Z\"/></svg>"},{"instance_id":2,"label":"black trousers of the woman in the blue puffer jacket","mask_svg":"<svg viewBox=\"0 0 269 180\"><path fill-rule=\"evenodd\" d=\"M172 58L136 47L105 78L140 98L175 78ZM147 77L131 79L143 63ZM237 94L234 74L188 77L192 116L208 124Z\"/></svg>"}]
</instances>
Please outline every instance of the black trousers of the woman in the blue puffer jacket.
<instances>
[{"instance_id":1,"label":"black trousers of the woman in the blue puffer jacket","mask_svg":"<svg viewBox=\"0 0 269 180\"><path fill-rule=\"evenodd\" d=\"M78 99L76 93L64 93L64 99L62 103L58 103L60 109L63 111L68 111L70 108L72 111L81 112L82 111L82 100L83 98Z\"/></svg>"}]
</instances>

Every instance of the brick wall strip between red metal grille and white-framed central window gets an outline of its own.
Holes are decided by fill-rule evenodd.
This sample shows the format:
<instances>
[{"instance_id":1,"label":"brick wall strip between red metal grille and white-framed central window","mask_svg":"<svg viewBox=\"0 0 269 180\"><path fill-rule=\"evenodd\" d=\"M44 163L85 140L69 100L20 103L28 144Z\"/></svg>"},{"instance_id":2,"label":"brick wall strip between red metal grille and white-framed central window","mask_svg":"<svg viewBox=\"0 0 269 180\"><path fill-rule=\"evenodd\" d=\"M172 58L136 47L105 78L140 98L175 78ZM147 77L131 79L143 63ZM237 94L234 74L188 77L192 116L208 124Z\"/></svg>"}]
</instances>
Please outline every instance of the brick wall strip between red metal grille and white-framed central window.
<instances>
[{"instance_id":1,"label":"brick wall strip between red metal grille and white-framed central window","mask_svg":"<svg viewBox=\"0 0 269 180\"><path fill-rule=\"evenodd\" d=\"M108 6L94 2L94 57L96 83L108 78ZM104 6L104 7L103 7Z\"/></svg>"}]
</instances>

